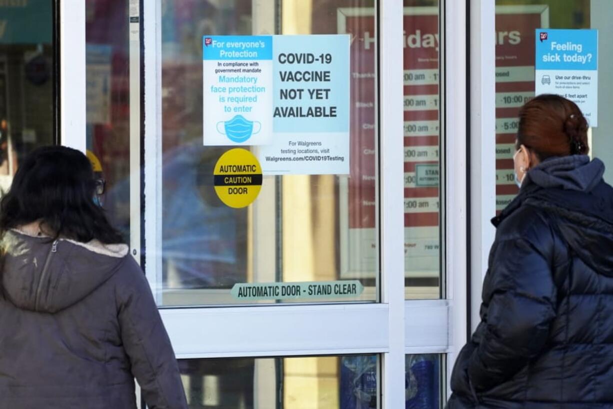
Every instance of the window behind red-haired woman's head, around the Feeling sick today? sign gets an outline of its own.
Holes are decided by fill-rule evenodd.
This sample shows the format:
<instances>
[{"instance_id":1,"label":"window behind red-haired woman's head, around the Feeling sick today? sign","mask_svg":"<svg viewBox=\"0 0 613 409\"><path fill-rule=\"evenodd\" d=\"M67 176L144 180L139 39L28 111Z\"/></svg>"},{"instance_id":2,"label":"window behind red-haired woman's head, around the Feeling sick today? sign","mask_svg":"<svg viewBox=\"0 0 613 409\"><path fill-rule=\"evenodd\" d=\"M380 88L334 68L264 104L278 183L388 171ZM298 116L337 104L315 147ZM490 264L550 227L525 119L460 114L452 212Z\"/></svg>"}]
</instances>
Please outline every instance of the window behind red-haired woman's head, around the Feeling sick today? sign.
<instances>
[{"instance_id":1,"label":"window behind red-haired woman's head, around the Feeling sick today? sign","mask_svg":"<svg viewBox=\"0 0 613 409\"><path fill-rule=\"evenodd\" d=\"M514 182L514 143L519 107L535 96L535 30L598 29L598 71L613 64L613 47L606 42L611 31L611 2L607 0L497 0L496 1L496 208L500 212L517 194ZM539 80L546 82L547 78ZM550 78L549 78L550 80ZM607 165L605 179L613 180L613 123L607 109L613 82L598 77L598 97L593 101L597 126L590 120L590 154ZM564 92L560 92L564 93ZM593 113L592 113L593 115Z\"/></svg>"}]
</instances>

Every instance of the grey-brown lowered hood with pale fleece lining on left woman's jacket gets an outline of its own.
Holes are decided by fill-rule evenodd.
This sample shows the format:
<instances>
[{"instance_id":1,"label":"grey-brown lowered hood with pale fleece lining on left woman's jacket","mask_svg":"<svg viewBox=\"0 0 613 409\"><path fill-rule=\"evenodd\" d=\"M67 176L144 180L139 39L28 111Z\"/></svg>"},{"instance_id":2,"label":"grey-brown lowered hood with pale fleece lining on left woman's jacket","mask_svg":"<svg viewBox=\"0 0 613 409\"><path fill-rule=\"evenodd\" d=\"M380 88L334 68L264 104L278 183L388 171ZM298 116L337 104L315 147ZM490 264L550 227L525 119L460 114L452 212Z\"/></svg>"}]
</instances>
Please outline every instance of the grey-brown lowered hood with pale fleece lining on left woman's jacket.
<instances>
[{"instance_id":1,"label":"grey-brown lowered hood with pale fleece lining on left woman's jacket","mask_svg":"<svg viewBox=\"0 0 613 409\"><path fill-rule=\"evenodd\" d=\"M22 310L56 313L74 305L115 274L128 254L125 244L53 241L24 230L4 235L0 272L2 292Z\"/></svg>"}]
</instances>

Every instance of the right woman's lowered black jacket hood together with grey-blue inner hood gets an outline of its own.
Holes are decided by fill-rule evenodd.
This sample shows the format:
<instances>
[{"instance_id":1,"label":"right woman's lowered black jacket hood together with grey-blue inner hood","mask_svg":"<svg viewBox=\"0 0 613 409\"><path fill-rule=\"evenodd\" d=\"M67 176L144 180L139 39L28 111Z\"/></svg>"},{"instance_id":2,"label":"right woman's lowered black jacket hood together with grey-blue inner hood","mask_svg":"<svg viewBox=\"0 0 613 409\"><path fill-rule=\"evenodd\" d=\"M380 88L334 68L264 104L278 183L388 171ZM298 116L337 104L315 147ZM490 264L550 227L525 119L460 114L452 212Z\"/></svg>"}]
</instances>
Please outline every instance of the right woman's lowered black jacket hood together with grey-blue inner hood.
<instances>
[{"instance_id":1,"label":"right woman's lowered black jacket hood together with grey-blue inner hood","mask_svg":"<svg viewBox=\"0 0 613 409\"><path fill-rule=\"evenodd\" d=\"M547 160L528 172L519 195L492 222L498 226L524 203L543 208L582 262L613 277L613 188L603 174L603 162L585 155Z\"/></svg>"}]
</instances>

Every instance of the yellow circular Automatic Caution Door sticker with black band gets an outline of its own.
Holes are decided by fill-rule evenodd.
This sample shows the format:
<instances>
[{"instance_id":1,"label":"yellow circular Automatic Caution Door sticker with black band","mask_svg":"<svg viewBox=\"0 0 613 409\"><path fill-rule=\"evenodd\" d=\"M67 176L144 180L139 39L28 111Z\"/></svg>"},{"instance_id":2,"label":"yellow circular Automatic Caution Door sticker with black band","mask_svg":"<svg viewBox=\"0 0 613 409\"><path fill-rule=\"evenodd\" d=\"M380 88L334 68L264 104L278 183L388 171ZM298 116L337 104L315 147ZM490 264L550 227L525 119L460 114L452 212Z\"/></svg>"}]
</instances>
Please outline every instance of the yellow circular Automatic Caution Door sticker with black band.
<instances>
[{"instance_id":1,"label":"yellow circular Automatic Caution Door sticker with black band","mask_svg":"<svg viewBox=\"0 0 613 409\"><path fill-rule=\"evenodd\" d=\"M262 189L262 168L248 150L228 150L215 164L213 184L219 199L230 208L244 208Z\"/></svg>"}]
</instances>

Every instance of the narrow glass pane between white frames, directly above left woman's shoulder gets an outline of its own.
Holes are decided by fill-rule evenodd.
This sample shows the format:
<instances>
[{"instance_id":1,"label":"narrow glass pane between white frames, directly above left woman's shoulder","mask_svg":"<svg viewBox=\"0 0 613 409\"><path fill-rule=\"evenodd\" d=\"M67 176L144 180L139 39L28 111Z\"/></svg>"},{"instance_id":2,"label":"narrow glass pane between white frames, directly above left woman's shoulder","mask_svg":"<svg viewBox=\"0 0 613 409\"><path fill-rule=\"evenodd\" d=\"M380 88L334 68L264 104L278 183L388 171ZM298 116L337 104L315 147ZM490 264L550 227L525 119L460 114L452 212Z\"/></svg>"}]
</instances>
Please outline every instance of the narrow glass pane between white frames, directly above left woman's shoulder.
<instances>
[{"instance_id":1,"label":"narrow glass pane between white frames, directly above left woman's shoulder","mask_svg":"<svg viewBox=\"0 0 613 409\"><path fill-rule=\"evenodd\" d=\"M88 0L85 26L87 154L96 177L106 181L102 205L126 240L131 225L128 4L128 0ZM135 58L138 61L139 56ZM132 92L138 95L138 90ZM134 120L140 123L138 116Z\"/></svg>"}]
</instances>

